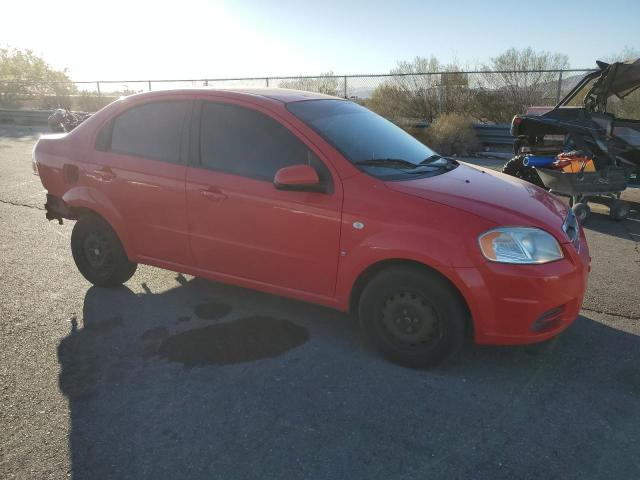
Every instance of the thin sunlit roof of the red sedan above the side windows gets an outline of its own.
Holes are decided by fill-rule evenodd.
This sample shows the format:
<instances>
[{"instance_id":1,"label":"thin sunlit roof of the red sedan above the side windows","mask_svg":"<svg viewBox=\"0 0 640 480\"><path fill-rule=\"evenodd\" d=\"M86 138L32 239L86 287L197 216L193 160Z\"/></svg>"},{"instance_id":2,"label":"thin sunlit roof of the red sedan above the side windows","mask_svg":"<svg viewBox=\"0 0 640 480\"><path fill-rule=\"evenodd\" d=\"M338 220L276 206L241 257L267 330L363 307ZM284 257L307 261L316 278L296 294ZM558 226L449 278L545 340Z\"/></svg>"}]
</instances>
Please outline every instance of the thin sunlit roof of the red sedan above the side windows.
<instances>
[{"instance_id":1,"label":"thin sunlit roof of the red sedan above the side windows","mask_svg":"<svg viewBox=\"0 0 640 480\"><path fill-rule=\"evenodd\" d=\"M332 99L332 100L344 100L341 97L335 97L333 95L325 95L324 93L307 92L304 90L292 90L288 88L180 88L180 89L168 89L168 90L156 90L153 92L143 92L132 96L135 97L155 97L166 96L167 94L175 95L188 95L197 94L203 95L210 92L212 95L219 96L219 94L229 94L229 96L250 96L250 97L263 97L270 100L275 100L281 103L298 102L301 100L320 100L320 99Z\"/></svg>"}]
</instances>

